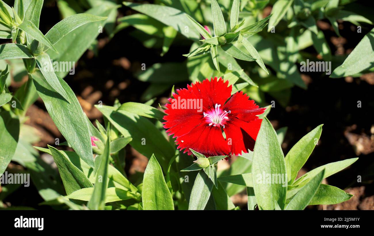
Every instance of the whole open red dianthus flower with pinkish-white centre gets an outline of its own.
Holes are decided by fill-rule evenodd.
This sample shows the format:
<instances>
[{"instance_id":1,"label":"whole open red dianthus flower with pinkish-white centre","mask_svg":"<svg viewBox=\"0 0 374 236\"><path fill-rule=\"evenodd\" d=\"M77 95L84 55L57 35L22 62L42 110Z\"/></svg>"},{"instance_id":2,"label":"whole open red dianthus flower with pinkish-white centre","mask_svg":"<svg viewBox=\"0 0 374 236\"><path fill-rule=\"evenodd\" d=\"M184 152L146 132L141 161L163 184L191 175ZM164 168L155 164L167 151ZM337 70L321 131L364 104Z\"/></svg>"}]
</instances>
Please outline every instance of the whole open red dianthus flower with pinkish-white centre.
<instances>
[{"instance_id":1,"label":"whole open red dianthus flower with pinkish-white centre","mask_svg":"<svg viewBox=\"0 0 374 236\"><path fill-rule=\"evenodd\" d=\"M177 139L178 149L191 155L191 148L207 157L253 151L262 121L257 115L265 108L242 91L232 96L231 91L228 81L215 77L172 94L174 99L165 105L163 127Z\"/></svg>"}]
</instances>

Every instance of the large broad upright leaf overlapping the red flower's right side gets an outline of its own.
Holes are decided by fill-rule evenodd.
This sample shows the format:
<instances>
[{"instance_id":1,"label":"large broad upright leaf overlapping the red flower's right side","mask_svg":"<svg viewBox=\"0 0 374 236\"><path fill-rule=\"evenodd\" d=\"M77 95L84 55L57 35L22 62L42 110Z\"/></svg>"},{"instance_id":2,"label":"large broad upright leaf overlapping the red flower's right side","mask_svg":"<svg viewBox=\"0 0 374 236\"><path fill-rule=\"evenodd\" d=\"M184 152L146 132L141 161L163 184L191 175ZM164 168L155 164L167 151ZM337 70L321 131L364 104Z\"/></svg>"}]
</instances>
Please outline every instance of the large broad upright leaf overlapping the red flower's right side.
<instances>
[{"instance_id":1,"label":"large broad upright leaf overlapping the red flower's right side","mask_svg":"<svg viewBox=\"0 0 374 236\"><path fill-rule=\"evenodd\" d=\"M263 173L271 175L271 183L267 182L268 179ZM274 201L283 209L287 192L286 164L277 134L266 117L261 122L253 151L252 176L255 195L261 209L274 209Z\"/></svg>"}]
</instances>

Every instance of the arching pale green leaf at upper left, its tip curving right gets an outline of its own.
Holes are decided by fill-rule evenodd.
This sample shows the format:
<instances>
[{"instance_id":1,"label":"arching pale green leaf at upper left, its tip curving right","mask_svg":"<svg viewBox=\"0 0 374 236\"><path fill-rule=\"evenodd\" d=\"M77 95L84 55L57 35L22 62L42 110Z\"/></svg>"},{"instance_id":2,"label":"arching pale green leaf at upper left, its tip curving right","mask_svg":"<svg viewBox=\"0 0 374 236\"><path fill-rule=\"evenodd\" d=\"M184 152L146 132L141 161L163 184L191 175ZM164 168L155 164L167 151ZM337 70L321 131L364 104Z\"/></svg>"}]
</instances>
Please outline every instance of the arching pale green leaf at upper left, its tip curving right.
<instances>
[{"instance_id":1,"label":"arching pale green leaf at upper left, its tip curving right","mask_svg":"<svg viewBox=\"0 0 374 236\"><path fill-rule=\"evenodd\" d=\"M46 33L45 37L53 45L74 29L91 22L103 21L105 19L107 19L107 17L95 16L86 13L72 15L55 24Z\"/></svg>"}]
</instances>

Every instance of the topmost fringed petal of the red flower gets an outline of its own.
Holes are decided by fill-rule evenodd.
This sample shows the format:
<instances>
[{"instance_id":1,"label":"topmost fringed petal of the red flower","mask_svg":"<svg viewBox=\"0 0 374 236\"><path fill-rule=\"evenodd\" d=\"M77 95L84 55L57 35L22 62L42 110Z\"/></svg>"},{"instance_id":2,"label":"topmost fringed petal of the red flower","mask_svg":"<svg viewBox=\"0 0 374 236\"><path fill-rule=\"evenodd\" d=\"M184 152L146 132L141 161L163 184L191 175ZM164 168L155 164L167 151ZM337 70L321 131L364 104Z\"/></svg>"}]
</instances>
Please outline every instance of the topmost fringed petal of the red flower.
<instances>
[{"instance_id":1,"label":"topmost fringed petal of the red flower","mask_svg":"<svg viewBox=\"0 0 374 236\"><path fill-rule=\"evenodd\" d=\"M193 91L197 98L203 99L203 107L206 110L214 108L214 105L221 104L223 106L227 99L231 96L232 85L229 81L223 82L222 78L214 77L209 81L196 82L187 86L189 91Z\"/></svg>"}]
</instances>

